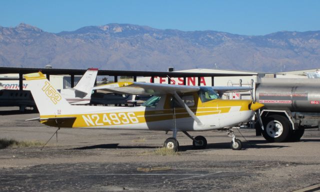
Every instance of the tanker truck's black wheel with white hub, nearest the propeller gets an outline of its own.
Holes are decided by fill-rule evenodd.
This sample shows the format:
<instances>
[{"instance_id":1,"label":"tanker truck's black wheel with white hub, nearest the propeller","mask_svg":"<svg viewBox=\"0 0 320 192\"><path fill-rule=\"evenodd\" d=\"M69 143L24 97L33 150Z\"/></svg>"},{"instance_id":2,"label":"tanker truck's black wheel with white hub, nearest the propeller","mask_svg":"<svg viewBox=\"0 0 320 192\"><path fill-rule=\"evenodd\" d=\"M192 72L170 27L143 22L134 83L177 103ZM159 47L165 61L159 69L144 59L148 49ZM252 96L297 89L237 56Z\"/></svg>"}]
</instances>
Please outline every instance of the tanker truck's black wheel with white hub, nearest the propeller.
<instances>
[{"instance_id":1,"label":"tanker truck's black wheel with white hub, nearest the propeller","mask_svg":"<svg viewBox=\"0 0 320 192\"><path fill-rule=\"evenodd\" d=\"M287 118L273 114L263 120L263 137L270 142L283 142L290 138L291 130Z\"/></svg>"}]
</instances>

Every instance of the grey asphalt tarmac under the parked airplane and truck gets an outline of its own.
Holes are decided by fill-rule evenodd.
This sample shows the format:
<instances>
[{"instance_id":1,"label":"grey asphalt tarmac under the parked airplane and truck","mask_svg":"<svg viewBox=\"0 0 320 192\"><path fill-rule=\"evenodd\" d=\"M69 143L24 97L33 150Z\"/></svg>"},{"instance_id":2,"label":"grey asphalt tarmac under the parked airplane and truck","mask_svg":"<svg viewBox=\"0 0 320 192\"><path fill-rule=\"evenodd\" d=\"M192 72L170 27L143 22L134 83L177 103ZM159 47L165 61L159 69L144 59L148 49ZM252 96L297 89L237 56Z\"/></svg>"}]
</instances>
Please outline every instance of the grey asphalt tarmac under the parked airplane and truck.
<instances>
[{"instance_id":1,"label":"grey asphalt tarmac under the parked airplane and truck","mask_svg":"<svg viewBox=\"0 0 320 192\"><path fill-rule=\"evenodd\" d=\"M36 113L6 113L0 138L44 143L56 130L24 121ZM320 183L317 129L283 143L240 131L242 150L229 148L224 131L189 132L205 136L207 148L178 133L178 154L161 156L153 151L170 132L61 128L42 150L0 149L0 191L294 191Z\"/></svg>"}]
</instances>

